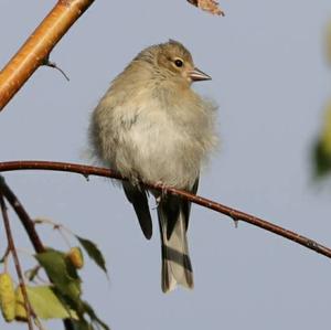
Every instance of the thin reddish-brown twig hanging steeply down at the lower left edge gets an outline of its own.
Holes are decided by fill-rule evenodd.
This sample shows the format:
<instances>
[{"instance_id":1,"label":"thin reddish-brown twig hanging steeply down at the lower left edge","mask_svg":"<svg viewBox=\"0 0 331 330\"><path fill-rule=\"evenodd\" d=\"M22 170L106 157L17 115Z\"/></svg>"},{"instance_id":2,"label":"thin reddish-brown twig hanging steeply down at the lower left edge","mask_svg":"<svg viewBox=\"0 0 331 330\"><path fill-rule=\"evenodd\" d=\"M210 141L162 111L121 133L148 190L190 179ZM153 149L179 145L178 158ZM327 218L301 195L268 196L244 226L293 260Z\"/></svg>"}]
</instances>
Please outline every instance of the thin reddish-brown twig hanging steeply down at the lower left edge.
<instances>
[{"instance_id":1,"label":"thin reddish-brown twig hanging steeply down at the lower left edge","mask_svg":"<svg viewBox=\"0 0 331 330\"><path fill-rule=\"evenodd\" d=\"M4 228L6 228L8 245L9 245L10 252L13 256L13 262L15 265L17 274L18 274L19 281L20 281L20 287L21 287L22 295L23 295L24 308L25 308L26 315L28 315L29 330L33 330L31 305L30 305L30 301L28 298L28 292L26 292L26 287L25 287L25 283L24 283L24 278L23 278L22 268L20 265L19 256L17 253L15 244L14 244L11 228L10 228L9 217L8 217L8 213L7 213L7 206L6 206L3 195L1 192L0 192L0 206L1 206L2 217L3 217Z\"/></svg>"}]
</instances>

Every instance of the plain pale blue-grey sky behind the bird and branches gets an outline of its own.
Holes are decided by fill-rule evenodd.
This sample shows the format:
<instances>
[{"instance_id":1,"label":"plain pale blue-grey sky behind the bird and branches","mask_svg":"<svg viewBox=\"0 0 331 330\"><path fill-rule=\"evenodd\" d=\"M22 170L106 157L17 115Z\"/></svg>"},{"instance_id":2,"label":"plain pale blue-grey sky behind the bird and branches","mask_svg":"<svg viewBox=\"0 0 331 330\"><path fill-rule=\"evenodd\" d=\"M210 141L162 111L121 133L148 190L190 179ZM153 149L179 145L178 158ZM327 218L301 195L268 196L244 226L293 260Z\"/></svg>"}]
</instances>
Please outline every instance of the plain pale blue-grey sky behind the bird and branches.
<instances>
[{"instance_id":1,"label":"plain pale blue-grey sky behind the bird and branches","mask_svg":"<svg viewBox=\"0 0 331 330\"><path fill-rule=\"evenodd\" d=\"M54 3L1 1L0 66ZM222 146L199 193L331 246L331 189L312 184L309 159L331 97L331 70L323 58L331 2L221 4L225 18L184 0L95 1L51 54L71 82L42 67L0 114L1 161L87 163L82 151L88 116L109 82L142 47L175 39L213 77L195 88L220 105ZM114 330L330 328L331 262L323 256L244 223L235 230L229 219L193 206L189 241L195 288L163 295L157 222L147 242L119 189L66 173L6 178L32 216L47 216L98 243L110 283L88 263L84 294ZM17 245L32 251L10 215ZM52 231L41 235L45 244L64 247ZM1 329L22 327L0 320Z\"/></svg>"}]
</instances>

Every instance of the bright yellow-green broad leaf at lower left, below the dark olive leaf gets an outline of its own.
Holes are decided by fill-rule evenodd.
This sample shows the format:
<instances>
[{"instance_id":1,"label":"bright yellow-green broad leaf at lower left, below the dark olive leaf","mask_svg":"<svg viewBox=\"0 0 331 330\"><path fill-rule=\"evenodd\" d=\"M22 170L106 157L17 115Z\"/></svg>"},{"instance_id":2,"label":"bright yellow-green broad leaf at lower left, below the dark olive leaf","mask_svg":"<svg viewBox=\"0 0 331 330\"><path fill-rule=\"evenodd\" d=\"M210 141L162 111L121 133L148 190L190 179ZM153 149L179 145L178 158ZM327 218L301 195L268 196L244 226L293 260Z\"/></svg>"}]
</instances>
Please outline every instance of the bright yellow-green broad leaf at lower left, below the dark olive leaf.
<instances>
[{"instance_id":1,"label":"bright yellow-green broad leaf at lower left, below the dark olive leaf","mask_svg":"<svg viewBox=\"0 0 331 330\"><path fill-rule=\"evenodd\" d=\"M41 319L77 319L77 315L61 302L52 287L28 286L26 292L33 311Z\"/></svg>"}]
</instances>

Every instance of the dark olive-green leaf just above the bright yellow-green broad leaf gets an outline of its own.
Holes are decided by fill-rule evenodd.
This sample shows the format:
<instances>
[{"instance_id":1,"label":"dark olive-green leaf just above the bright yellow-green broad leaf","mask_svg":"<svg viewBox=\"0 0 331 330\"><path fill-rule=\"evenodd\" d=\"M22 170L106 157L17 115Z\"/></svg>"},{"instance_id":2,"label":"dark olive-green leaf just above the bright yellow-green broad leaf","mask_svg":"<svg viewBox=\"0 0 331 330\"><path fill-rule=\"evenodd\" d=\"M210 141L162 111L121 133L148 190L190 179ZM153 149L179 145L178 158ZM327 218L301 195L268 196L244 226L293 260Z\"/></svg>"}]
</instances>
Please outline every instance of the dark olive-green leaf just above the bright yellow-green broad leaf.
<instances>
[{"instance_id":1,"label":"dark olive-green leaf just above the bright yellow-green broad leaf","mask_svg":"<svg viewBox=\"0 0 331 330\"><path fill-rule=\"evenodd\" d=\"M47 249L36 254L35 258L64 297L67 296L72 300L79 299L81 278L75 267L67 262L64 253Z\"/></svg>"}]
</instances>

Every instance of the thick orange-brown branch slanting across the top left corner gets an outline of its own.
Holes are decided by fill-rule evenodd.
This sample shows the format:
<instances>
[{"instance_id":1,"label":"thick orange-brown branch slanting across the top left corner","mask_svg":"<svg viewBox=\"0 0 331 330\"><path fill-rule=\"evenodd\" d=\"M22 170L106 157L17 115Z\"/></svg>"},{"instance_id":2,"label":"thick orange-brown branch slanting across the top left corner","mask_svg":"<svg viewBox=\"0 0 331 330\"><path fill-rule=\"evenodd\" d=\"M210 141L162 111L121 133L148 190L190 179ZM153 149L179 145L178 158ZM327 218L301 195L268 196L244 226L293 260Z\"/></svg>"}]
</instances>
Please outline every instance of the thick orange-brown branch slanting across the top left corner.
<instances>
[{"instance_id":1,"label":"thick orange-brown branch slanting across the top left corner","mask_svg":"<svg viewBox=\"0 0 331 330\"><path fill-rule=\"evenodd\" d=\"M61 38L94 0L58 0L47 17L0 72L0 111L43 65Z\"/></svg>"}]
</instances>

